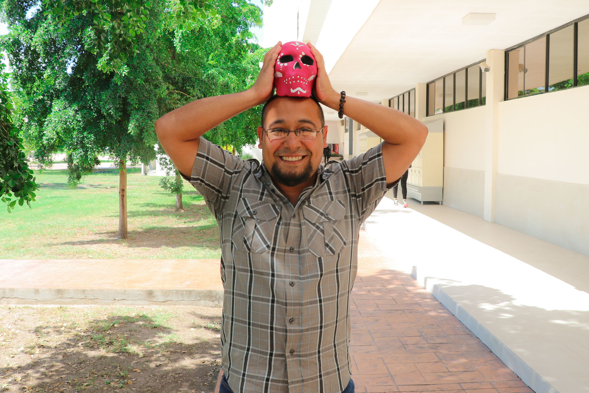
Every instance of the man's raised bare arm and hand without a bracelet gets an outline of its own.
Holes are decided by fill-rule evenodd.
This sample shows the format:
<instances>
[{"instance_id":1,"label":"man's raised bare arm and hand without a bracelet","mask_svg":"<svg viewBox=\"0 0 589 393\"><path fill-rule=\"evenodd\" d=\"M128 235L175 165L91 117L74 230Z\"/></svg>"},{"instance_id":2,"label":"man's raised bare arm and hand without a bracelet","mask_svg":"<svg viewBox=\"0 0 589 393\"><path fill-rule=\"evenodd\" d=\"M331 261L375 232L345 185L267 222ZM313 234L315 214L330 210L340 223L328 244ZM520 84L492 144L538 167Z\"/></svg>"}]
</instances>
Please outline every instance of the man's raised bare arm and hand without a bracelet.
<instances>
[{"instance_id":1,"label":"man's raised bare arm and hand without a bracelet","mask_svg":"<svg viewBox=\"0 0 589 393\"><path fill-rule=\"evenodd\" d=\"M201 98L158 118L155 122L155 133L161 147L181 173L190 177L200 136L223 121L272 97L274 62L281 45L282 42L278 42L264 55L260 74L248 90Z\"/></svg>"}]
</instances>

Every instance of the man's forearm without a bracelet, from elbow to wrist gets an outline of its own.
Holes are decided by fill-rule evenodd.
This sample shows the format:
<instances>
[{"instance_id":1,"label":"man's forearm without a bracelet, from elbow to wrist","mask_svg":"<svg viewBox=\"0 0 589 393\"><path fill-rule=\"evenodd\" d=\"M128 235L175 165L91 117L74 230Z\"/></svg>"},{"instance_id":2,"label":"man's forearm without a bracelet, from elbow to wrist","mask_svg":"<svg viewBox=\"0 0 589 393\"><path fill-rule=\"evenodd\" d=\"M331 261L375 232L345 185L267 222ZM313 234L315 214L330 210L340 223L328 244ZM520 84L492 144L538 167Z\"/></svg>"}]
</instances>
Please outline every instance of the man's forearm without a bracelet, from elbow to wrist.
<instances>
[{"instance_id":1,"label":"man's forearm without a bracelet, from elbow to wrist","mask_svg":"<svg viewBox=\"0 0 589 393\"><path fill-rule=\"evenodd\" d=\"M201 98L160 117L155 122L155 132L160 140L194 140L223 121L261 103L252 90Z\"/></svg>"}]
</instances>

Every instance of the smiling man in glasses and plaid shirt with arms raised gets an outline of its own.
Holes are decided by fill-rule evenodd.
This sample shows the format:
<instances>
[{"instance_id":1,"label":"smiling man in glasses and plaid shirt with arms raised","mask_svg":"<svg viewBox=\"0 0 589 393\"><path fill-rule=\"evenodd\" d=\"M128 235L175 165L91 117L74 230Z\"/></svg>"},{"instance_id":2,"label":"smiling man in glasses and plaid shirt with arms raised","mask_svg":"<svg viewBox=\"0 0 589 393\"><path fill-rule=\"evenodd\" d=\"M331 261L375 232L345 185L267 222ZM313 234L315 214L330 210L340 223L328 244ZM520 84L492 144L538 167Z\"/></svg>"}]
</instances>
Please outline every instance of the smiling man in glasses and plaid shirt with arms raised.
<instances>
[{"instance_id":1,"label":"smiling man in glasses and plaid shirt with arms raised","mask_svg":"<svg viewBox=\"0 0 589 393\"><path fill-rule=\"evenodd\" d=\"M427 129L392 108L348 97L344 113L384 142L325 169L327 127L319 104L272 98L281 45L266 53L251 88L193 101L158 119L155 130L219 222L221 392L349 393L359 227L417 156ZM322 55L309 47L317 62L313 97L337 111L340 94ZM200 138L262 103L262 164Z\"/></svg>"}]
</instances>

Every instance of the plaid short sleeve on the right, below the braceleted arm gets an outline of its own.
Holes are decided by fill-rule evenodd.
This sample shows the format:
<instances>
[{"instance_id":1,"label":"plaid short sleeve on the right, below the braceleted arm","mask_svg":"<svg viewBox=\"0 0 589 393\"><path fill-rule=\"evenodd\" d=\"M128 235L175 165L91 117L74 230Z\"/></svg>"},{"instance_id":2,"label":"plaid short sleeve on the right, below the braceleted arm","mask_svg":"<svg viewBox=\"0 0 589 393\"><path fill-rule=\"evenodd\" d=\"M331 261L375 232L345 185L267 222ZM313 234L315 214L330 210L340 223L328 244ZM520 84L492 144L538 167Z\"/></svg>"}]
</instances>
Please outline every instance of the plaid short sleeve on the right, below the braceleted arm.
<instances>
[{"instance_id":1,"label":"plaid short sleeve on the right, below the braceleted arm","mask_svg":"<svg viewBox=\"0 0 589 393\"><path fill-rule=\"evenodd\" d=\"M342 161L342 169L348 178L353 199L356 200L360 223L372 214L386 191L392 189L401 180L398 179L390 186L386 186L382 143L358 157Z\"/></svg>"}]
</instances>

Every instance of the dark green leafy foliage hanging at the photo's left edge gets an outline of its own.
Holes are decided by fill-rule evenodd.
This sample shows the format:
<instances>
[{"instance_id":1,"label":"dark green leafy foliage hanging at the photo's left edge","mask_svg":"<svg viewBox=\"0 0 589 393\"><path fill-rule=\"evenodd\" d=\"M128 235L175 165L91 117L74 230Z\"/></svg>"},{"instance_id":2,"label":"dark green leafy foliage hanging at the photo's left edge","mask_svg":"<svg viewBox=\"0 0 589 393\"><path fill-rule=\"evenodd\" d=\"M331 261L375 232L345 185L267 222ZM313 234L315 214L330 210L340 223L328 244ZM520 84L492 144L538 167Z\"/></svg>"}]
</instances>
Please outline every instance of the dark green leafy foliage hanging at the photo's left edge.
<instances>
[{"instance_id":1,"label":"dark green leafy foliage hanging at the photo's left edge","mask_svg":"<svg viewBox=\"0 0 589 393\"><path fill-rule=\"evenodd\" d=\"M6 203L8 213L16 203L22 206L35 200L37 184L28 159L23 152L22 138L12 124L12 102L8 94L8 78L5 65L0 63L0 197ZM12 196L14 194L14 198Z\"/></svg>"}]
</instances>

